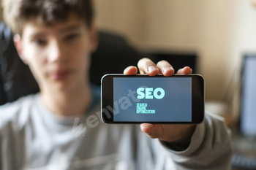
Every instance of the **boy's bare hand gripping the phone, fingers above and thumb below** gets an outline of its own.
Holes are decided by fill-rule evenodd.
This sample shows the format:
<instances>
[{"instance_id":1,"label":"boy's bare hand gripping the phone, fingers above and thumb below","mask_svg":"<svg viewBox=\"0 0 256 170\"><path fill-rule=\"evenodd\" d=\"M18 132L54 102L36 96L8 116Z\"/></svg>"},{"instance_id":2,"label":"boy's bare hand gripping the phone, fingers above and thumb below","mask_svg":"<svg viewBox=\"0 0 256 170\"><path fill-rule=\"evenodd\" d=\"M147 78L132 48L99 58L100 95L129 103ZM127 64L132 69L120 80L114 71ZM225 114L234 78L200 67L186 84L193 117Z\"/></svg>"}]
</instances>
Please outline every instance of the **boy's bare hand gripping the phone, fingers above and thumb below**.
<instances>
[{"instance_id":1,"label":"boy's bare hand gripping the phone, fingers above and thumb below","mask_svg":"<svg viewBox=\"0 0 256 170\"><path fill-rule=\"evenodd\" d=\"M164 76L171 76L174 74L174 70L170 63L166 61L159 61L157 66L148 58L143 58L138 62L138 68L140 74L147 74L149 76L155 76L157 74L163 74ZM135 75L138 69L135 66L129 66L124 70L124 74ZM184 67L184 69L178 70L178 74L191 74L192 69ZM168 124L151 124L143 123L140 128L151 138L158 138L165 142L175 142L181 146L187 147L193 132L195 131L195 125L168 125Z\"/></svg>"}]
</instances>

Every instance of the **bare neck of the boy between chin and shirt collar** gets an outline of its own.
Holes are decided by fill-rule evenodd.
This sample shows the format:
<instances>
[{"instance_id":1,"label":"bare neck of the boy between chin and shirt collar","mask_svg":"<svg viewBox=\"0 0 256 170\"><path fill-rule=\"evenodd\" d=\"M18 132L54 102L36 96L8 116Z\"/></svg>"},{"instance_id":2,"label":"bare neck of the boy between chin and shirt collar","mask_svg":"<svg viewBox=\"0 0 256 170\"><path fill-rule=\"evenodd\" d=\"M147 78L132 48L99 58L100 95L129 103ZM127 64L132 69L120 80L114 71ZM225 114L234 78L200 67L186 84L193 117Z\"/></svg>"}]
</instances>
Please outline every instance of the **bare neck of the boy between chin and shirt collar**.
<instances>
[{"instance_id":1,"label":"bare neck of the boy between chin and shirt collar","mask_svg":"<svg viewBox=\"0 0 256 170\"><path fill-rule=\"evenodd\" d=\"M43 103L56 115L82 115L91 105L91 88L89 83L73 90L41 90Z\"/></svg>"}]
</instances>

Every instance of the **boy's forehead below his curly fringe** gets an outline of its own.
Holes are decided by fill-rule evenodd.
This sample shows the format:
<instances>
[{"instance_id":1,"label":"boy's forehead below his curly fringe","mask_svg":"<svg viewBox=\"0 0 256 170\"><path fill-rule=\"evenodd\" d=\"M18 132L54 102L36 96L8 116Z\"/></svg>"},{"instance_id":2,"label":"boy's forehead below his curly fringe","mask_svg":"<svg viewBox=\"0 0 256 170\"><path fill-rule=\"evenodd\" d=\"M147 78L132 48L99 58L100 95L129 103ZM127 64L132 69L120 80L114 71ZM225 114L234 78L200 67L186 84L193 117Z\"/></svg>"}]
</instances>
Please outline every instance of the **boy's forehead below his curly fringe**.
<instances>
[{"instance_id":1,"label":"boy's forehead below his curly fringe","mask_svg":"<svg viewBox=\"0 0 256 170\"><path fill-rule=\"evenodd\" d=\"M23 26L23 36L38 36L46 34L64 34L69 31L88 29L86 23L76 15L70 14L67 20L59 20L51 25L46 25L36 18L31 18Z\"/></svg>"}]
</instances>

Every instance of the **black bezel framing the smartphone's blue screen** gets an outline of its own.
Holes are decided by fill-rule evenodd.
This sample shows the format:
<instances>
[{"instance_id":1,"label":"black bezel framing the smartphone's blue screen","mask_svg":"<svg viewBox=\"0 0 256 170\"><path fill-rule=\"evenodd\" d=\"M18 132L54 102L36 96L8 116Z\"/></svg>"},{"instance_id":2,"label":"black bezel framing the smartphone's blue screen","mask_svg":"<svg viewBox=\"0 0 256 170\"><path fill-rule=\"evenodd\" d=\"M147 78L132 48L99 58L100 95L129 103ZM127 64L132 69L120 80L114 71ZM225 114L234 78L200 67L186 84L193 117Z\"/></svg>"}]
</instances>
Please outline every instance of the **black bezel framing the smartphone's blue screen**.
<instances>
[{"instance_id":1,"label":"black bezel framing the smartphone's blue screen","mask_svg":"<svg viewBox=\"0 0 256 170\"><path fill-rule=\"evenodd\" d=\"M157 75L154 77L172 78L172 77L192 77L192 122L156 122L156 121L113 121L113 112L109 109L108 113L103 112L108 106L113 108L113 77L150 77L145 74L124 75L124 74L105 74L101 81L101 115L105 123L115 124L139 124L139 123L154 123L154 124L199 124L202 123L204 118L204 105L205 105L205 81L200 74L174 74L171 77ZM200 98L200 99L197 99ZM107 115L109 114L109 115ZM110 116L110 118L108 118Z\"/></svg>"}]
</instances>

